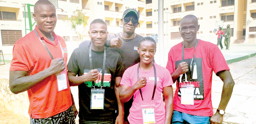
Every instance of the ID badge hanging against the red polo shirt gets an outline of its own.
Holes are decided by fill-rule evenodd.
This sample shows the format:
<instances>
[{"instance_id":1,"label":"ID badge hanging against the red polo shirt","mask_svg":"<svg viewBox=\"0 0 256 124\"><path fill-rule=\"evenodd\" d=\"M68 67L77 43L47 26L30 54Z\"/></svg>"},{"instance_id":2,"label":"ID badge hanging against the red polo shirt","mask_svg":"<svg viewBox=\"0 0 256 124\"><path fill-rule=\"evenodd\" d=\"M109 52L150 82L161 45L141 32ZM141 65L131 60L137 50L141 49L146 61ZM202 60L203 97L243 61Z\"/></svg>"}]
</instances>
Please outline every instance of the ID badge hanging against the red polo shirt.
<instances>
[{"instance_id":1,"label":"ID badge hanging against the red polo shirt","mask_svg":"<svg viewBox=\"0 0 256 124\"><path fill-rule=\"evenodd\" d=\"M68 88L66 69L56 74L58 91Z\"/></svg>"}]
</instances>

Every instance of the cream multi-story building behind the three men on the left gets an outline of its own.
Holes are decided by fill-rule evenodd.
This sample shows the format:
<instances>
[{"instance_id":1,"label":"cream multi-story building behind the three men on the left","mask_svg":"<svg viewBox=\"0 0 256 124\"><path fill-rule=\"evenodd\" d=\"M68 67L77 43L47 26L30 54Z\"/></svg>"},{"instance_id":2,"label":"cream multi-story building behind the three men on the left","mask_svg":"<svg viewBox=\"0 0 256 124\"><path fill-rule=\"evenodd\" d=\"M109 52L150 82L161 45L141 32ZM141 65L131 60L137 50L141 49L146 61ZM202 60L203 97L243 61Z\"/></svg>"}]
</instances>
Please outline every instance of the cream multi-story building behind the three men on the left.
<instances>
[{"instance_id":1,"label":"cream multi-story building behind the three men on the left","mask_svg":"<svg viewBox=\"0 0 256 124\"><path fill-rule=\"evenodd\" d=\"M28 10L26 4L34 5L37 0L1 0L0 1L0 49L4 54L11 54L15 42L26 35L29 29ZM90 39L88 37L89 25L92 20L100 18L107 23L109 34L115 34L122 31L121 18L124 10L134 8L140 13L140 25L135 33L145 36L145 1L142 0L49 0L56 3L57 24L54 29L57 35L60 35L66 41L68 49L72 50L78 47L80 39L68 22L63 21L63 17L71 17L73 11L79 9L86 13L85 35L82 40ZM25 28L25 10L26 8L26 28ZM34 7L30 7L32 23L34 23ZM34 29L35 25L33 26ZM83 30L79 27L78 30ZM70 54L71 55L71 54Z\"/></svg>"}]
</instances>

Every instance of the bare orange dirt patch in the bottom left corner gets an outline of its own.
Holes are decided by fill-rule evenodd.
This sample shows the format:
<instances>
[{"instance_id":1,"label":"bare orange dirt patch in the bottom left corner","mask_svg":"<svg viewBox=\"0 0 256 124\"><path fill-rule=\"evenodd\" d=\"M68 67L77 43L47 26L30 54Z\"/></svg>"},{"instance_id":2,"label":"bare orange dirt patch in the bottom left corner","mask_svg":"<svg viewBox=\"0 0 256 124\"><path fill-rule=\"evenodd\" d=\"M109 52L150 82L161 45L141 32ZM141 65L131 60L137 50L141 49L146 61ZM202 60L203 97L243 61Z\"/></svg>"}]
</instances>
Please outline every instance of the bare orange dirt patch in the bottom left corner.
<instances>
[{"instance_id":1,"label":"bare orange dirt patch in the bottom left corner","mask_svg":"<svg viewBox=\"0 0 256 124\"><path fill-rule=\"evenodd\" d=\"M0 105L0 124L29 124L29 119L10 112Z\"/></svg>"}]
</instances>

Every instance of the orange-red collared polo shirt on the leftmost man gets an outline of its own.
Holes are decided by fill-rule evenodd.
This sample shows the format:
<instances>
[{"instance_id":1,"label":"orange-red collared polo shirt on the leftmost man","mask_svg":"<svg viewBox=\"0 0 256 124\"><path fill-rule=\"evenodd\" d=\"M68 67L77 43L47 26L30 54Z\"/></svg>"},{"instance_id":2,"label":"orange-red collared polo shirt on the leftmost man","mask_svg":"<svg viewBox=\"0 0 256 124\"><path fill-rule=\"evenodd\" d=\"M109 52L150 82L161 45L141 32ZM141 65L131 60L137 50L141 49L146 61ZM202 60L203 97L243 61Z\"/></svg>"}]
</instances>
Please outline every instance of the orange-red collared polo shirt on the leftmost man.
<instances>
[{"instance_id":1,"label":"orange-red collared polo shirt on the leftmost man","mask_svg":"<svg viewBox=\"0 0 256 124\"><path fill-rule=\"evenodd\" d=\"M43 39L43 36L37 30L39 37ZM44 43L50 50L54 59L62 58L62 51L58 40L61 43L62 50L64 51L64 63L67 70L67 47L60 36L53 33L54 44L44 38ZM13 59L11 60L10 71L22 70L31 71L30 75L34 75L50 66L51 57L47 53L45 47L38 39L34 31L19 39L13 48ZM67 77L67 89L58 92L58 86L56 81L56 75L48 76L43 79L34 87L27 90L29 98L29 110L28 113L32 118L46 118L56 115L58 113L66 111L72 104L70 87Z\"/></svg>"}]
</instances>

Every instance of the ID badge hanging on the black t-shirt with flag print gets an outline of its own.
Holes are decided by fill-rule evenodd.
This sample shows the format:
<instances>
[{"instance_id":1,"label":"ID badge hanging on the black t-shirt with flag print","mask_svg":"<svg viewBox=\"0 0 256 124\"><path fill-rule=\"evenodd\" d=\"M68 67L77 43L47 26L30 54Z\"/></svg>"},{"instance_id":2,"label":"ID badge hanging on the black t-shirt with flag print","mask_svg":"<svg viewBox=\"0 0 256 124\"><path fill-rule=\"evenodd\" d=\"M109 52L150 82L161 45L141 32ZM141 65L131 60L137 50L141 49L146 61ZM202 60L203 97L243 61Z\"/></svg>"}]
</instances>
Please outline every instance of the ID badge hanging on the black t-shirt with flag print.
<instances>
[{"instance_id":1,"label":"ID badge hanging on the black t-shirt with flag print","mask_svg":"<svg viewBox=\"0 0 256 124\"><path fill-rule=\"evenodd\" d=\"M91 109L104 109L105 89L91 89Z\"/></svg>"}]
</instances>

